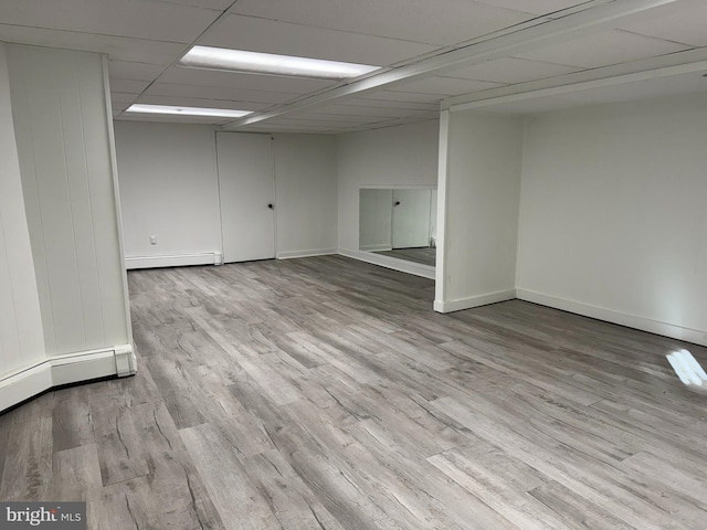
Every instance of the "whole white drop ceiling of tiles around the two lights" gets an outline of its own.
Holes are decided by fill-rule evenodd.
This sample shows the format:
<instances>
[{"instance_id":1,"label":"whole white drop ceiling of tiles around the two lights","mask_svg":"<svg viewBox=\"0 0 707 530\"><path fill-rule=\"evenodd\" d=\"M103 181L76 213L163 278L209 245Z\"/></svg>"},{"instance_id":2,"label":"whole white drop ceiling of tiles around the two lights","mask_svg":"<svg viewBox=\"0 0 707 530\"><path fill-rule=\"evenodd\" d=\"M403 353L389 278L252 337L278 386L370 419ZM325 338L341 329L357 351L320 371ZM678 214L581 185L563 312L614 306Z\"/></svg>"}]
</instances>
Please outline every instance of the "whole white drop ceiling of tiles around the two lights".
<instances>
[{"instance_id":1,"label":"whole white drop ceiling of tiles around the two lights","mask_svg":"<svg viewBox=\"0 0 707 530\"><path fill-rule=\"evenodd\" d=\"M705 21L705 0L0 1L0 40L108 55L116 119L254 131L388 127L434 119L442 100L462 95L490 98L538 84L567 85L578 76L652 70L666 57L673 64L707 60L707 49L696 50L707 46ZM193 44L382 70L347 85L176 66ZM697 72L600 94L528 99L504 112L611 100L610 94L624 100L703 91L707 80ZM254 114L233 123L145 117L125 113L133 103Z\"/></svg>"}]
</instances>

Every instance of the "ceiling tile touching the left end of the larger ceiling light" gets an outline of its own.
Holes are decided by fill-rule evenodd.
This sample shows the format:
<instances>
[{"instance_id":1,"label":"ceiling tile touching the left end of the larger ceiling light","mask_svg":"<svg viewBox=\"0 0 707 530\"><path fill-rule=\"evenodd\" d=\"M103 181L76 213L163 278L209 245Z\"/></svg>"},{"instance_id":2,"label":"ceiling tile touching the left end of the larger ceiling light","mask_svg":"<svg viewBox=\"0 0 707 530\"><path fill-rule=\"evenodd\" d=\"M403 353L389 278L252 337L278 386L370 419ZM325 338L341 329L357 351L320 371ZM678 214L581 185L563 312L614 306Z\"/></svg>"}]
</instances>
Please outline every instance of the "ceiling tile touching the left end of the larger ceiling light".
<instances>
[{"instance_id":1,"label":"ceiling tile touching the left end of the larger ceiling light","mask_svg":"<svg viewBox=\"0 0 707 530\"><path fill-rule=\"evenodd\" d=\"M115 60L162 65L171 64L187 51L184 44L173 42L93 35L73 31L43 30L8 24L0 24L0 40L35 46L106 53L110 59Z\"/></svg>"}]
</instances>

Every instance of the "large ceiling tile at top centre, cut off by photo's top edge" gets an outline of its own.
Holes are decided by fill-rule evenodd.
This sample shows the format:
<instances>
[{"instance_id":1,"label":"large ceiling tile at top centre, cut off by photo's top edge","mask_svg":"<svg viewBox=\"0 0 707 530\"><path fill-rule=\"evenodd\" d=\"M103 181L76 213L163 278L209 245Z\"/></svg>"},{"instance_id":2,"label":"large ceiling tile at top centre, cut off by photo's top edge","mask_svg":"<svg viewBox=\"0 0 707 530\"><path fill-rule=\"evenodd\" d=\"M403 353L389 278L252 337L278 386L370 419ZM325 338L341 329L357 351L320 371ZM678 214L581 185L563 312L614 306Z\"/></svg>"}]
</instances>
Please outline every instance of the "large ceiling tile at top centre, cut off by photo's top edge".
<instances>
[{"instance_id":1,"label":"large ceiling tile at top centre, cut off by photo's top edge","mask_svg":"<svg viewBox=\"0 0 707 530\"><path fill-rule=\"evenodd\" d=\"M233 11L435 45L467 41L532 18L469 0L241 0Z\"/></svg>"}]
</instances>

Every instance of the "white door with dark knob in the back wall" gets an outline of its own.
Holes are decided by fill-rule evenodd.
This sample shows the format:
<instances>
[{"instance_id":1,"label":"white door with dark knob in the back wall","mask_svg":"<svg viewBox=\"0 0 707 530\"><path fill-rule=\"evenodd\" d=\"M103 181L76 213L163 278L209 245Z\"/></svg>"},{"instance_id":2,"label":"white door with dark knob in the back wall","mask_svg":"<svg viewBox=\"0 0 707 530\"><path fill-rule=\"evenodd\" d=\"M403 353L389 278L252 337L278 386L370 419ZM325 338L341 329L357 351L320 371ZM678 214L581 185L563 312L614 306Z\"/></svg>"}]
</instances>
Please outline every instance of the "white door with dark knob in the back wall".
<instances>
[{"instance_id":1,"label":"white door with dark knob in the back wall","mask_svg":"<svg viewBox=\"0 0 707 530\"><path fill-rule=\"evenodd\" d=\"M217 132L221 230L225 263L275 257L273 140Z\"/></svg>"}]
</instances>

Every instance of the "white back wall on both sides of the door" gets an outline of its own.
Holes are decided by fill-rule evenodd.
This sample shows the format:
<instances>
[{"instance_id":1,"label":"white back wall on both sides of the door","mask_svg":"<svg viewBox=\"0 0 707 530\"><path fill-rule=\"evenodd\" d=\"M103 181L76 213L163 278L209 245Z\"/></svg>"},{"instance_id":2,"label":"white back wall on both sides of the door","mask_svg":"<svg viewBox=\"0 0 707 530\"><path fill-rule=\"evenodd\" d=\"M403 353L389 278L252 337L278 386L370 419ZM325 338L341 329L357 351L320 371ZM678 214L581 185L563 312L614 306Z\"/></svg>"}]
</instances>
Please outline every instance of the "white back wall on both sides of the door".
<instances>
[{"instance_id":1,"label":"white back wall on both sides of the door","mask_svg":"<svg viewBox=\"0 0 707 530\"><path fill-rule=\"evenodd\" d=\"M222 252L215 129L117 121L115 130L128 266L213 263ZM277 257L335 252L335 139L275 135L273 144Z\"/></svg>"}]
</instances>

